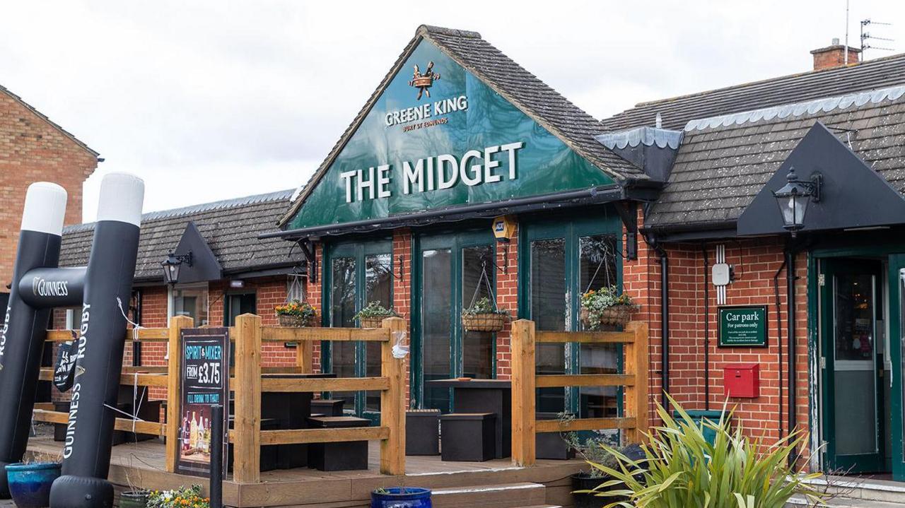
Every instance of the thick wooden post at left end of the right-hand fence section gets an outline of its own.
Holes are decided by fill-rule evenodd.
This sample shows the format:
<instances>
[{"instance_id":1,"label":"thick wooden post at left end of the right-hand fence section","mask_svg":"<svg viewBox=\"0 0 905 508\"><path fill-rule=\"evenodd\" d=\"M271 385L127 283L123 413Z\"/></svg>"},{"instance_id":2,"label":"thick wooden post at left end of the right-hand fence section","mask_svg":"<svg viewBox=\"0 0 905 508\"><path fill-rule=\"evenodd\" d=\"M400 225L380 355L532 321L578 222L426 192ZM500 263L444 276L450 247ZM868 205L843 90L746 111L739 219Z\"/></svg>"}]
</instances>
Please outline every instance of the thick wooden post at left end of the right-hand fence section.
<instances>
[{"instance_id":1,"label":"thick wooden post at left end of the right-hand fence section","mask_svg":"<svg viewBox=\"0 0 905 508\"><path fill-rule=\"evenodd\" d=\"M534 466L534 322L512 322L512 464Z\"/></svg>"}]
</instances>

